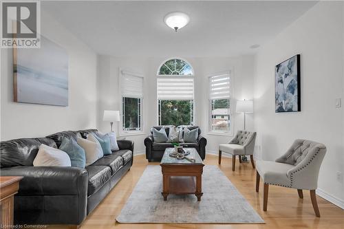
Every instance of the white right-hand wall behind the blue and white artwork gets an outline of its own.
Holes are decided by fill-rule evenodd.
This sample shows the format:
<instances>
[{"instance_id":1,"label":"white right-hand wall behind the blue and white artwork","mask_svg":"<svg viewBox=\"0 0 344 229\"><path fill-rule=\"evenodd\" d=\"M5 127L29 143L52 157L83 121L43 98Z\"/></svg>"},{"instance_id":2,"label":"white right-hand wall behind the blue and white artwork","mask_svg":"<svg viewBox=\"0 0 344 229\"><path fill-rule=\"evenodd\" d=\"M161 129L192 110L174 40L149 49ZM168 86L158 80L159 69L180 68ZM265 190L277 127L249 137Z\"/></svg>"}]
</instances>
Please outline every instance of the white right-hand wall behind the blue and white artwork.
<instances>
[{"instance_id":1,"label":"white right-hand wall behind the blue and white artwork","mask_svg":"<svg viewBox=\"0 0 344 229\"><path fill-rule=\"evenodd\" d=\"M322 142L327 153L319 193L344 206L343 3L319 2L261 47L256 56L255 129L257 156L275 160L297 138ZM275 113L274 67L301 54L301 112Z\"/></svg>"}]
</instances>

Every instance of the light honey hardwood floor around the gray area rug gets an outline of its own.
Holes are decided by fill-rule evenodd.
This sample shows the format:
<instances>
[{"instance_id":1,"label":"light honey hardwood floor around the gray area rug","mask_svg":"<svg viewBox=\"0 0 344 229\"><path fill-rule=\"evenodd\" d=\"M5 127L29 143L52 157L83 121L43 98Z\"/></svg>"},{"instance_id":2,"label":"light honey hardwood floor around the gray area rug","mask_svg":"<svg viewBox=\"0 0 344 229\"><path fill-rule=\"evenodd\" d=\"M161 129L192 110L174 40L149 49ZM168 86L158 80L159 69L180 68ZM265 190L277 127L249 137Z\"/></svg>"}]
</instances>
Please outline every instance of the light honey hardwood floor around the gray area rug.
<instances>
[{"instance_id":1,"label":"light honey hardwood floor around the gray area rug","mask_svg":"<svg viewBox=\"0 0 344 229\"><path fill-rule=\"evenodd\" d=\"M283 188L279 186L269 186L268 211L263 211L263 182L261 182L259 193L255 191L256 172L249 163L239 164L235 172L231 171L231 159L222 157L222 164L219 165L218 157L206 155L205 164L219 166L224 174L237 187L241 195L247 199L258 214L266 221L265 224L120 224L115 223L115 217L120 213L125 205L131 191L136 186L138 179L142 175L148 163L144 155L137 155L131 170L122 180L111 190L111 193L100 203L100 205L85 219L80 226L81 229L168 229L168 228L344 228L344 210L334 204L316 196L318 199L321 217L314 215L312 201L309 191L304 192L303 199L299 198L296 189ZM147 184L149 185L149 184ZM135 217L135 215L133 215ZM68 228L63 226L50 226L49 228Z\"/></svg>"}]
</instances>

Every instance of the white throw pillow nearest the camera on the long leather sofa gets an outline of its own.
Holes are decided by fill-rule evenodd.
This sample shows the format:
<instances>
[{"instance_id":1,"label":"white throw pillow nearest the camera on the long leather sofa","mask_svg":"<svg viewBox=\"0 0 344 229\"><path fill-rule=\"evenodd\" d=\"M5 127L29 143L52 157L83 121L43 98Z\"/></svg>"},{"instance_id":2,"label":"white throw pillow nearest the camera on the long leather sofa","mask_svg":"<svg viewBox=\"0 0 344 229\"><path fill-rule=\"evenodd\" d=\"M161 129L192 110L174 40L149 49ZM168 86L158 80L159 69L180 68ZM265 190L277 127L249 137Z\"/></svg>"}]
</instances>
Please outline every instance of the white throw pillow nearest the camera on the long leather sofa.
<instances>
[{"instance_id":1,"label":"white throw pillow nearest the camera on the long leather sofa","mask_svg":"<svg viewBox=\"0 0 344 229\"><path fill-rule=\"evenodd\" d=\"M46 144L39 146L39 152L34 157L34 166L72 166L70 158L64 151Z\"/></svg>"}]
</instances>

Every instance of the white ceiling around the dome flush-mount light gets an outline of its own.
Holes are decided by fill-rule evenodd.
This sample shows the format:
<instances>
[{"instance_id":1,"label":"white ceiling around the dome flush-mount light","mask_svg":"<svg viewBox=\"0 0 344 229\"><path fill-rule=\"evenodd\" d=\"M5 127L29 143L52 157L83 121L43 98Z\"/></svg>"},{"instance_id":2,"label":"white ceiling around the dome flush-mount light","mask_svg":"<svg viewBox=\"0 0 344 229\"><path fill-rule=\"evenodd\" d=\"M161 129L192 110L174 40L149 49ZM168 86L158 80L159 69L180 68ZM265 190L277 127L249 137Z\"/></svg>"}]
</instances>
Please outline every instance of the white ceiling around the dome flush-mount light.
<instances>
[{"instance_id":1,"label":"white ceiling around the dome flush-mount light","mask_svg":"<svg viewBox=\"0 0 344 229\"><path fill-rule=\"evenodd\" d=\"M42 1L41 8L98 54L220 57L252 54L316 1ZM189 14L178 32L169 12ZM283 45L283 44L281 44Z\"/></svg>"}]
</instances>

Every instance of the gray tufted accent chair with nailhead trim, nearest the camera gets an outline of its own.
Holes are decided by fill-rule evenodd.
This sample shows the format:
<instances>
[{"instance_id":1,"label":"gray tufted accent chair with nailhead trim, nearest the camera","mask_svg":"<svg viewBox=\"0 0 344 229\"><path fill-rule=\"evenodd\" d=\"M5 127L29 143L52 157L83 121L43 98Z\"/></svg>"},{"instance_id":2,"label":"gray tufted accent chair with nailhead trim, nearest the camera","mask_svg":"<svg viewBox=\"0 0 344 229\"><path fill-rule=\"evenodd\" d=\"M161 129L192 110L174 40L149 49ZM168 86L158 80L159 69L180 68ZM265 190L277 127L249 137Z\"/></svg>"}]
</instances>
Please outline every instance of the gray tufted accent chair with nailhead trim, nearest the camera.
<instances>
[{"instance_id":1,"label":"gray tufted accent chair with nailhead trim, nearest the camera","mask_svg":"<svg viewBox=\"0 0 344 229\"><path fill-rule=\"evenodd\" d=\"M297 188L303 199L302 190L310 190L310 197L315 215L320 217L316 203L315 190L318 186L318 175L326 153L326 146L310 140L295 140L287 153L277 158L276 162L259 160L257 164L256 192L259 192L259 179L264 181L263 210L268 208L269 184L287 188Z\"/></svg>"}]
</instances>

